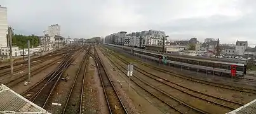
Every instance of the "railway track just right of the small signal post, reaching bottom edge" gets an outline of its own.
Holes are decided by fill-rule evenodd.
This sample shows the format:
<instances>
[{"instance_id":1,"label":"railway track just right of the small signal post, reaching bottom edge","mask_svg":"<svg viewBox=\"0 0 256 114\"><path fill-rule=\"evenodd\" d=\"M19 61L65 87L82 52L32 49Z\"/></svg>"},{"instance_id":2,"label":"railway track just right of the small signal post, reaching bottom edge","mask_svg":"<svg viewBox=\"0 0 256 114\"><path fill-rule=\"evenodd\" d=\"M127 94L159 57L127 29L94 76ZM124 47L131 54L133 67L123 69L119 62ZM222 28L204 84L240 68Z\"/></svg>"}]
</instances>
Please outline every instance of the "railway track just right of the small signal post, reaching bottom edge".
<instances>
[{"instance_id":1,"label":"railway track just right of the small signal post, reaching bottom edge","mask_svg":"<svg viewBox=\"0 0 256 114\"><path fill-rule=\"evenodd\" d=\"M111 63L113 65L117 66L117 68L126 75L127 70L123 65L114 61L114 59L111 59L109 57L107 57L107 58L109 59L109 61L111 61ZM165 103L166 106L169 106L175 112L179 112L179 113L206 113L205 111L200 110L200 109L198 109L194 106L188 105L184 101L181 101L180 99L177 99L177 98L173 97L171 94L168 94L167 92L165 92L161 89L158 89L158 87L156 87L155 85L152 85L149 82L146 82L145 80L142 80L140 77L138 77L135 74L133 74L133 77L131 77L131 80L136 85L138 85L138 87L140 87L144 91L146 91L149 94L151 94L152 96L154 96L154 98L159 99L159 101Z\"/></svg>"}]
</instances>

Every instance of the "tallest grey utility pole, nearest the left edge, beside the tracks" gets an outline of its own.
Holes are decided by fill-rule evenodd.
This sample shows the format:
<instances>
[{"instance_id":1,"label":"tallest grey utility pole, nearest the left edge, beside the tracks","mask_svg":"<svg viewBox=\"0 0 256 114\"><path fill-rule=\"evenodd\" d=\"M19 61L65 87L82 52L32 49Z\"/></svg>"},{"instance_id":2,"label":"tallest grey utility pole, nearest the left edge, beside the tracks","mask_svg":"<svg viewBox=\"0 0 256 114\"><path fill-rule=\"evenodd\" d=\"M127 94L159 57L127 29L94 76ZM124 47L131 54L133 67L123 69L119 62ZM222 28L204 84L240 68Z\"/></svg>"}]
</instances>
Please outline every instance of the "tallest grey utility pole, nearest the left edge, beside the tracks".
<instances>
[{"instance_id":1,"label":"tallest grey utility pole, nearest the left edge, beside the tracks","mask_svg":"<svg viewBox=\"0 0 256 114\"><path fill-rule=\"evenodd\" d=\"M11 60L11 77L10 77L10 80L13 77L13 48L12 48L13 39L12 39L12 37L13 37L13 29L11 27L8 27L8 39L9 39L10 60Z\"/></svg>"}]
</instances>

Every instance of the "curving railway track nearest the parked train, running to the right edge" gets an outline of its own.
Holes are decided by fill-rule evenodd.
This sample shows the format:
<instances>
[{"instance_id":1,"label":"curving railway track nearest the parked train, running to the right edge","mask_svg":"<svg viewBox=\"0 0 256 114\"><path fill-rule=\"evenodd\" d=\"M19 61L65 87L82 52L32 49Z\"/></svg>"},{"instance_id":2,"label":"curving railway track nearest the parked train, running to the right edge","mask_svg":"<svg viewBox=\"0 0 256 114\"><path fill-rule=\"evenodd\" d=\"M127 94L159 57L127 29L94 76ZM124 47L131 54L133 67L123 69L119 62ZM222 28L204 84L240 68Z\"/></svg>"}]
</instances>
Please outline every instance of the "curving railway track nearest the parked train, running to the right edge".
<instances>
[{"instance_id":1,"label":"curving railway track nearest the parked train, running to the right edge","mask_svg":"<svg viewBox=\"0 0 256 114\"><path fill-rule=\"evenodd\" d=\"M120 58L118 56L118 58ZM123 58L120 58L121 60L123 61L126 61L125 59ZM138 61L138 60L133 60L137 63L139 63L140 65L144 65L144 66L147 66L149 68L152 68L154 70L157 70L159 72L163 72L163 73L166 73L166 74L169 74L169 75L173 75L175 77L179 77L181 79L185 79L185 80L190 80L192 82L197 82L197 83L201 83L201 84L205 84L205 85L212 85L214 87L220 87L220 88L223 88L223 89L229 89L229 90L232 90L232 91L238 91L238 92L246 92L246 93L250 93L250 94L256 94L256 90L255 89L248 89L248 88L243 88L243 87L236 87L236 86L232 86L232 85L227 85L227 84L221 84L221 83L217 83L217 82L210 82L208 80L202 80L202 79L198 79L198 78L194 78L194 77L187 77L185 75L180 75L180 74L177 74L177 73L173 73L173 72L170 72L168 70L165 70L163 68L158 68L156 66L152 66L152 65L148 65L147 63L143 63L142 61Z\"/></svg>"}]
</instances>

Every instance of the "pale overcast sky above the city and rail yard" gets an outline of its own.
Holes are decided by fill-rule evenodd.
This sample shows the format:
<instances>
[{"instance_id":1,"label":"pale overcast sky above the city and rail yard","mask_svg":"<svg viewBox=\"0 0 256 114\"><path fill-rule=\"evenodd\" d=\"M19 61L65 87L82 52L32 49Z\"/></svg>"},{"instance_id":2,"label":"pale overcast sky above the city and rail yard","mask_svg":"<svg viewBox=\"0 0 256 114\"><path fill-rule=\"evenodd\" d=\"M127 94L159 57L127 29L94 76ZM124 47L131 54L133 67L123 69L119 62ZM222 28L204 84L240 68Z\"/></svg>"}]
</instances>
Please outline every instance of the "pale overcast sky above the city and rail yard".
<instances>
[{"instance_id":1,"label":"pale overcast sky above the city and rail yard","mask_svg":"<svg viewBox=\"0 0 256 114\"><path fill-rule=\"evenodd\" d=\"M125 30L164 30L170 39L220 38L256 44L255 0L1 0L16 33L90 38Z\"/></svg>"}]
</instances>

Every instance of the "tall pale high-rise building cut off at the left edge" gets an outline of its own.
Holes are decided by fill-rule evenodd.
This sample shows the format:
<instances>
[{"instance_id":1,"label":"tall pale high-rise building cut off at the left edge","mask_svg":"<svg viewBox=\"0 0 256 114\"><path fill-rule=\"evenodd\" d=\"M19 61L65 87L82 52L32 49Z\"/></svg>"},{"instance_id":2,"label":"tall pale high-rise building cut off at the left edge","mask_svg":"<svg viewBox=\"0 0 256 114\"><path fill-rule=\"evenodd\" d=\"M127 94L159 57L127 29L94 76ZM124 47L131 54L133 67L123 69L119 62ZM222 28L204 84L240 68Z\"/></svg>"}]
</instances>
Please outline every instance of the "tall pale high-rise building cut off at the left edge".
<instances>
[{"instance_id":1,"label":"tall pale high-rise building cut off at the left edge","mask_svg":"<svg viewBox=\"0 0 256 114\"><path fill-rule=\"evenodd\" d=\"M8 34L7 8L0 5L0 48L7 46L6 34Z\"/></svg>"}]
</instances>

